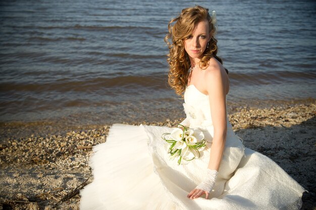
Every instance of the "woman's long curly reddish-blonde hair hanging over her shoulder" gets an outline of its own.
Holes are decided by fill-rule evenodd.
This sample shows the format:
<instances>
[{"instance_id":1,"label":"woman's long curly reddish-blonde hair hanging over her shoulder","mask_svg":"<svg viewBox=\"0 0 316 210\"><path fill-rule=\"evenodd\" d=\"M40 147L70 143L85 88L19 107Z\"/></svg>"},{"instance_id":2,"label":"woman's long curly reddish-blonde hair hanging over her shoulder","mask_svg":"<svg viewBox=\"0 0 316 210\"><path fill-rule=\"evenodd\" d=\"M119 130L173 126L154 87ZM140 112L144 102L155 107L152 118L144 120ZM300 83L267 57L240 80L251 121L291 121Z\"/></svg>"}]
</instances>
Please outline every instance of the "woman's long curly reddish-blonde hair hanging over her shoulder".
<instances>
[{"instance_id":1,"label":"woman's long curly reddish-blonde hair hanging over her shoulder","mask_svg":"<svg viewBox=\"0 0 316 210\"><path fill-rule=\"evenodd\" d=\"M190 35L199 22L204 20L209 23L210 39L208 41L209 46L205 49L199 62L199 67L205 69L212 56L223 64L222 59L216 55L218 47L217 39L214 36L217 26L212 23L208 9L200 6L183 9L180 16L172 19L168 24L169 33L165 37L165 42L170 50L167 55L167 61L170 65L168 83L178 95L182 95L186 88L189 77L188 69L191 66L189 55L184 49L184 39ZM215 21L213 22L215 23ZM172 25L172 23L174 24ZM169 39L171 39L171 43Z\"/></svg>"}]
</instances>

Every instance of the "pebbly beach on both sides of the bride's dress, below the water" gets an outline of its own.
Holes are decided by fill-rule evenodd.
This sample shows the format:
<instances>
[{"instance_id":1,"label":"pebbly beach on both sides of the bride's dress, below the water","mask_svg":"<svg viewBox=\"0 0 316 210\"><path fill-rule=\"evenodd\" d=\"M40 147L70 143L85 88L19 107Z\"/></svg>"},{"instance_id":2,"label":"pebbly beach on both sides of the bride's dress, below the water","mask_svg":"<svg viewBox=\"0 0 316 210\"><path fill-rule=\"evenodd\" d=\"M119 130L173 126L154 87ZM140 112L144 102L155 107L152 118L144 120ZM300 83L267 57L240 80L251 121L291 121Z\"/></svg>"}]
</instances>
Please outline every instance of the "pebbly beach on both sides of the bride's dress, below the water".
<instances>
[{"instance_id":1,"label":"pebbly beach on both sides of the bride's dress, below the water","mask_svg":"<svg viewBox=\"0 0 316 210\"><path fill-rule=\"evenodd\" d=\"M301 209L316 209L316 103L265 109L240 107L229 119L245 147L274 160L309 191L303 194ZM181 120L129 124L173 127ZM88 178L87 183L92 181L88 166L91 148L106 142L110 125L67 128L60 134L54 133L53 126L34 123L24 127L27 132L17 134L13 132L19 126L11 127L2 137L0 203L4 209L78 209L80 196L73 192ZM2 126L2 133L5 128Z\"/></svg>"}]
</instances>

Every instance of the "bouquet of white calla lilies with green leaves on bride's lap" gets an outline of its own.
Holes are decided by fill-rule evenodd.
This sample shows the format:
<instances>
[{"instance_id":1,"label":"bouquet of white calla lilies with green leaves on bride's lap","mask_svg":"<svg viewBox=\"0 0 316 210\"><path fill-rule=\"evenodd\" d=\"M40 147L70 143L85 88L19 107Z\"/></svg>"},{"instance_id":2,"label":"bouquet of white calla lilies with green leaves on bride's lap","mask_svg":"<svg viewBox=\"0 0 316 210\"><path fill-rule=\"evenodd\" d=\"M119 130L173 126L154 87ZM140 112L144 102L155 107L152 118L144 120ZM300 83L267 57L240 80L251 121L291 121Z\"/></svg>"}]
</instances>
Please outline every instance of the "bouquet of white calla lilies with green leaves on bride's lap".
<instances>
[{"instance_id":1,"label":"bouquet of white calla lilies with green leaves on bride's lap","mask_svg":"<svg viewBox=\"0 0 316 210\"><path fill-rule=\"evenodd\" d=\"M182 129L180 127L182 127ZM199 158L199 151L203 150L206 146L202 131L191 129L181 124L173 129L171 133L164 133L162 138L170 144L168 153L171 159L178 159L179 165L182 159L191 161L195 158Z\"/></svg>"}]
</instances>

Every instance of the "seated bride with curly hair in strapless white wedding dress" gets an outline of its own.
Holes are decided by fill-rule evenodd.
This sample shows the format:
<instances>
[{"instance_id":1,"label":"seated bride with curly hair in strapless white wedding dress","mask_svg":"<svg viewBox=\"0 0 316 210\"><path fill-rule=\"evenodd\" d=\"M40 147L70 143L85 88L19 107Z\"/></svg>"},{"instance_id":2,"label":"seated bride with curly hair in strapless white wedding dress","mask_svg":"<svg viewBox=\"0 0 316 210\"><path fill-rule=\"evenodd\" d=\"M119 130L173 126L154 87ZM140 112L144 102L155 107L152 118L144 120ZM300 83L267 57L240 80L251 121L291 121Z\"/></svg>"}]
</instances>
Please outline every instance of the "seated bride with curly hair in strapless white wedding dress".
<instances>
[{"instance_id":1,"label":"seated bride with curly hair in strapless white wedding dress","mask_svg":"<svg viewBox=\"0 0 316 210\"><path fill-rule=\"evenodd\" d=\"M81 209L299 209L304 189L268 157L244 148L228 121L228 71L217 56L216 14L195 6L168 25L169 84L206 147L181 165L168 155L172 128L114 124L93 149L93 182ZM171 39L171 42L169 40ZM264 141L264 139L262 139Z\"/></svg>"}]
</instances>

